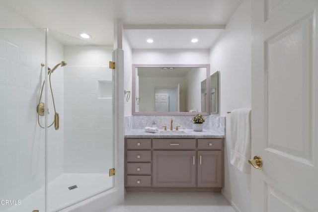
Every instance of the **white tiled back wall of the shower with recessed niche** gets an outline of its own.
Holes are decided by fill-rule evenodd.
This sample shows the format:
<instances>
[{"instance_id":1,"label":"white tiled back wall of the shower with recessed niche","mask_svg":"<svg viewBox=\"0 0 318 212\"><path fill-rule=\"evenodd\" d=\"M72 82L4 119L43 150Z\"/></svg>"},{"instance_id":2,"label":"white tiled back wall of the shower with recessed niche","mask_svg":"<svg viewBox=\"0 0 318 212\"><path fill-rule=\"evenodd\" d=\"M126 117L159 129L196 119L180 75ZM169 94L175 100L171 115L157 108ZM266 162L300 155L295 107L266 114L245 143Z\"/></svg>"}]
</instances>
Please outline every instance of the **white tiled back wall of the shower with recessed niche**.
<instances>
[{"instance_id":1,"label":"white tiled back wall of the shower with recessed niche","mask_svg":"<svg viewBox=\"0 0 318 212\"><path fill-rule=\"evenodd\" d=\"M66 46L64 172L105 173L113 164L110 47ZM93 59L94 58L94 59ZM99 60L98 60L99 59ZM105 97L105 96L104 96Z\"/></svg>"}]
</instances>

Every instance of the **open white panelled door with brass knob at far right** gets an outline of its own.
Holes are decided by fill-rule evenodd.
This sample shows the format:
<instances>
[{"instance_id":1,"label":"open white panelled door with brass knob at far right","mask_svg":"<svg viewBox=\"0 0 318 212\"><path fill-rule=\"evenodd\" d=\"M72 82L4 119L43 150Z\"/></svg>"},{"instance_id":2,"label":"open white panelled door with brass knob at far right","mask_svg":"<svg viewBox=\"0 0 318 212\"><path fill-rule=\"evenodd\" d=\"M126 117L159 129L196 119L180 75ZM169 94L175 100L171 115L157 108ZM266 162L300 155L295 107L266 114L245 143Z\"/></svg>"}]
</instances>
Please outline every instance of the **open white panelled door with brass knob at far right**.
<instances>
[{"instance_id":1,"label":"open white panelled door with brass knob at far right","mask_svg":"<svg viewBox=\"0 0 318 212\"><path fill-rule=\"evenodd\" d=\"M252 212L318 212L318 0L252 0Z\"/></svg>"}]
</instances>

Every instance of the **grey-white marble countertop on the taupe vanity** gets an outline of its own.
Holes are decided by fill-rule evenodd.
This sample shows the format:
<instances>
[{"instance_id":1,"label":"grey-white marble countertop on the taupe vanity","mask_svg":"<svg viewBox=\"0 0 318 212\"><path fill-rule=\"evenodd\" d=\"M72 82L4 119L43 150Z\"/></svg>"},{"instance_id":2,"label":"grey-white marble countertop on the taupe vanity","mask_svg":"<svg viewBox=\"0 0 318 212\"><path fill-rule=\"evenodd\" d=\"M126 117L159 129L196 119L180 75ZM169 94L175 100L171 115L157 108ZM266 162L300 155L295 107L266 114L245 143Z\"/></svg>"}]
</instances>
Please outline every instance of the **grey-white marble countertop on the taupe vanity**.
<instances>
[{"instance_id":1,"label":"grey-white marble countertop on the taupe vanity","mask_svg":"<svg viewBox=\"0 0 318 212\"><path fill-rule=\"evenodd\" d=\"M158 133L147 133L144 129L131 130L125 134L125 138L225 138L224 134L220 134L211 130L203 130L196 132L192 129L182 129L179 131L163 131Z\"/></svg>"}]
</instances>

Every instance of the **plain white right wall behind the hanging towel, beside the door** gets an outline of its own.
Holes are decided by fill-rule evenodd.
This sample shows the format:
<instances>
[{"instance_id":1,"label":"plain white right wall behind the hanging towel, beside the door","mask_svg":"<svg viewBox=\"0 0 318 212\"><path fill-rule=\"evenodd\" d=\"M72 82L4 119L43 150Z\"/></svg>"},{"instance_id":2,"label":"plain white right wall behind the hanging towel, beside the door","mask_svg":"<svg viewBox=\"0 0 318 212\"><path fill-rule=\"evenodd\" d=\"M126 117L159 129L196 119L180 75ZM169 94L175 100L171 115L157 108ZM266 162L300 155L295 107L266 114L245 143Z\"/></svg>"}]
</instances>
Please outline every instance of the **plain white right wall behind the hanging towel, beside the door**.
<instances>
[{"instance_id":1,"label":"plain white right wall behind the hanging towel, beside the door","mask_svg":"<svg viewBox=\"0 0 318 212\"><path fill-rule=\"evenodd\" d=\"M224 196L236 210L250 212L250 174L230 163L231 130L227 111L251 107L251 0L244 0L210 52L211 73L221 74L221 116L227 116Z\"/></svg>"}]
</instances>

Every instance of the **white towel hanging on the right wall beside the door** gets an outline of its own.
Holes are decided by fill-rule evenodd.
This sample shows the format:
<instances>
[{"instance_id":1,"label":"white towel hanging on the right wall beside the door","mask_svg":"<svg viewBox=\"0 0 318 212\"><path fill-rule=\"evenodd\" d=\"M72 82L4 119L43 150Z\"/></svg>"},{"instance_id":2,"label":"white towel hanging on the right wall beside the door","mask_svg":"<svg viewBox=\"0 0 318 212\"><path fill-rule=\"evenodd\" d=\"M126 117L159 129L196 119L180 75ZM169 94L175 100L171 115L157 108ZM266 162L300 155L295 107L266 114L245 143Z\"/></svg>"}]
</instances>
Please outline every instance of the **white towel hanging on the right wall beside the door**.
<instances>
[{"instance_id":1,"label":"white towel hanging on the right wall beside the door","mask_svg":"<svg viewBox=\"0 0 318 212\"><path fill-rule=\"evenodd\" d=\"M250 172L250 114L249 108L231 111L231 164L246 174Z\"/></svg>"}]
</instances>

